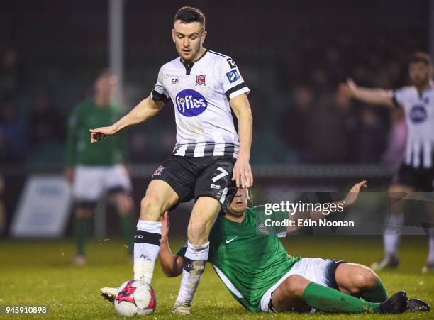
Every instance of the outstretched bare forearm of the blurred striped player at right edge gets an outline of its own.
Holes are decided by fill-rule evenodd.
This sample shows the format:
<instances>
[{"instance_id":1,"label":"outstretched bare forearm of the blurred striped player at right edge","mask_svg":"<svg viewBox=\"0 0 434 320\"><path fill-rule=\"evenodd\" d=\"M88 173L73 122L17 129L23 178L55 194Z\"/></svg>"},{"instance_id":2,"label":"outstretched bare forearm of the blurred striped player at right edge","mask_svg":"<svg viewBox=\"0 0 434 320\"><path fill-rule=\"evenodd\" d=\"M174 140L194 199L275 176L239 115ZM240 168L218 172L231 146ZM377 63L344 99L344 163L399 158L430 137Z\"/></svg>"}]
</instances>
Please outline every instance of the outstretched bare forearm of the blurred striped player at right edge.
<instances>
[{"instance_id":1,"label":"outstretched bare forearm of the blurred striped player at right edge","mask_svg":"<svg viewBox=\"0 0 434 320\"><path fill-rule=\"evenodd\" d=\"M348 98L357 99L366 104L395 106L394 95L391 90L358 87L352 79L340 84L339 89Z\"/></svg>"}]
</instances>

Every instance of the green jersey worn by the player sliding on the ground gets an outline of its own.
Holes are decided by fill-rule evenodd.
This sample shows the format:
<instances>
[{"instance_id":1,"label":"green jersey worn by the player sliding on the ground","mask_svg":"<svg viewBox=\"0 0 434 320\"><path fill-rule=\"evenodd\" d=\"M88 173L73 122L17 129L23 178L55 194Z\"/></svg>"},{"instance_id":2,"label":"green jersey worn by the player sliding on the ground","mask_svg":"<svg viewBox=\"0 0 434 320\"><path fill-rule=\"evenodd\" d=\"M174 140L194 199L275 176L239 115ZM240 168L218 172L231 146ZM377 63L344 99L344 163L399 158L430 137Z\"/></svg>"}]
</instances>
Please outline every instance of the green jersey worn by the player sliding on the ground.
<instances>
[{"instance_id":1,"label":"green jersey worn by the player sliding on the ground","mask_svg":"<svg viewBox=\"0 0 434 320\"><path fill-rule=\"evenodd\" d=\"M209 235L208 261L230 294L252 312L261 311L265 292L301 259L288 255L276 235L257 231L256 215L263 210L247 208L242 222L219 216ZM184 256L186 249L177 255Z\"/></svg>"}]
</instances>

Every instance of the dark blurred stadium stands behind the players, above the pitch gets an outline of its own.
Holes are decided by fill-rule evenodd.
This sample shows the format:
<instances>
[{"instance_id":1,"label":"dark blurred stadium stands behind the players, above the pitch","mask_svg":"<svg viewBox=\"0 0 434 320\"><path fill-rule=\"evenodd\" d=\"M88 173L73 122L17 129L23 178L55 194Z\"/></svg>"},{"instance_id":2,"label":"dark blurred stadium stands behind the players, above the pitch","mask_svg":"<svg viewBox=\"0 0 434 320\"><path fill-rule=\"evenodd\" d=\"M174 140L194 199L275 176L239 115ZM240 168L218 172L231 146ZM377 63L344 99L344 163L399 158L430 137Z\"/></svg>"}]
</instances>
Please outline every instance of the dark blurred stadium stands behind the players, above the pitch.
<instances>
[{"instance_id":1,"label":"dark blurred stadium stands behind the players, above the pitch","mask_svg":"<svg viewBox=\"0 0 434 320\"><path fill-rule=\"evenodd\" d=\"M62 177L67 118L74 104L91 95L102 68L109 66L120 77L116 99L126 112L148 96L160 66L177 55L170 28L181 5L187 3L2 2L2 236L11 236L30 177ZM348 101L337 92L338 84L347 77L367 87L406 84L408 55L414 50L434 53L434 1L188 5L206 14L205 46L233 57L251 89L255 203L284 199L291 189L338 190L362 179L370 191L386 189L404 150L403 115ZM128 130L136 204L152 172L172 152L174 138L172 106ZM55 189L45 192L56 197ZM67 197L59 201L72 210ZM173 232L180 236L188 209L180 206L173 218ZM103 207L96 214L96 238L118 235L111 211ZM71 234L66 216L57 236Z\"/></svg>"}]
</instances>

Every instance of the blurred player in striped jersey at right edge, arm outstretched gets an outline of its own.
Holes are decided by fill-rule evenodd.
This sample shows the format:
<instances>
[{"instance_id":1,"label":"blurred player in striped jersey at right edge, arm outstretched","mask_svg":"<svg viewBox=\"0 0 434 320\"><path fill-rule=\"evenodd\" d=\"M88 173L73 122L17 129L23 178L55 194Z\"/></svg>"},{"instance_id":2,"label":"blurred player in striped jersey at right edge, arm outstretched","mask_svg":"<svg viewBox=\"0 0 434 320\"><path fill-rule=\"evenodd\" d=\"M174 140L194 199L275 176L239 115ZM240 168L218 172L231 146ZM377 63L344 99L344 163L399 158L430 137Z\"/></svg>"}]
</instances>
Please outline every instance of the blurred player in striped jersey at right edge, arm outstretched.
<instances>
[{"instance_id":1,"label":"blurred player in striped jersey at right edge, arm outstretched","mask_svg":"<svg viewBox=\"0 0 434 320\"><path fill-rule=\"evenodd\" d=\"M403 108L408 127L404 161L389 187L391 198L403 197L412 192L434 192L434 83L433 65L427 53L411 56L408 72L412 85L396 90L357 87L351 79L341 84L348 97L367 104ZM384 230L384 258L374 263L374 270L397 267L399 227L404 222L404 201L394 200L389 223ZM433 202L426 202L428 219L434 221ZM434 272L434 228L428 229L429 253L422 272Z\"/></svg>"}]
</instances>

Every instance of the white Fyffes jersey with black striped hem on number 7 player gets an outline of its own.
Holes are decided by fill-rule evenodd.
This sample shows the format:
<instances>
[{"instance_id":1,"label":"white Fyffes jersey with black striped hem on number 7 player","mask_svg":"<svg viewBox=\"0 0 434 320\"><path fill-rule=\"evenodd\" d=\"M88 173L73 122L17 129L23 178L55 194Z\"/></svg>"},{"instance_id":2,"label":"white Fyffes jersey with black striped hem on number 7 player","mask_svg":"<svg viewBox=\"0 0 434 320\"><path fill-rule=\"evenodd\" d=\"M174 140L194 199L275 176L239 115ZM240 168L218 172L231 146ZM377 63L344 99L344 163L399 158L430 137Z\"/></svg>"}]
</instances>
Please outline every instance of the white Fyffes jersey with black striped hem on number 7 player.
<instances>
[{"instance_id":1,"label":"white Fyffes jersey with black striped hem on number 7 player","mask_svg":"<svg viewBox=\"0 0 434 320\"><path fill-rule=\"evenodd\" d=\"M230 57L206 50L189 65L180 57L163 65L151 98L172 99L177 123L175 155L237 158L238 133L229 101L249 92Z\"/></svg>"}]
</instances>

